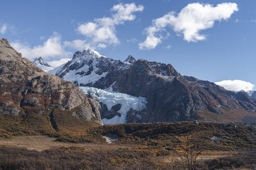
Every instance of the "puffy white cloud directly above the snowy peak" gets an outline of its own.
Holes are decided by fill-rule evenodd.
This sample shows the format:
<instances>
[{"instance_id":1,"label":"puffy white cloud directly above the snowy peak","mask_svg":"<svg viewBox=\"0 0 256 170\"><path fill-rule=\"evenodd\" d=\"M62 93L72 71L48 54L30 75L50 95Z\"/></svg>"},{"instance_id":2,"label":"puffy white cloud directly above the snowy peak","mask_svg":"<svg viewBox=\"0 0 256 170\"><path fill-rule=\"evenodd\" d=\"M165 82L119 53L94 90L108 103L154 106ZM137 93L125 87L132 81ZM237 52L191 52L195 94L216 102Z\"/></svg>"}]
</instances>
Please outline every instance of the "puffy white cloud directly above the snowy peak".
<instances>
[{"instance_id":1,"label":"puffy white cloud directly above the snowy peak","mask_svg":"<svg viewBox=\"0 0 256 170\"><path fill-rule=\"evenodd\" d=\"M111 17L97 18L94 22L83 23L78 26L77 31L92 42L92 46L106 48L107 45L117 45L119 40L116 36L116 25L135 20L134 12L143 9L144 6L137 6L135 3L114 5L110 9Z\"/></svg>"}]
</instances>

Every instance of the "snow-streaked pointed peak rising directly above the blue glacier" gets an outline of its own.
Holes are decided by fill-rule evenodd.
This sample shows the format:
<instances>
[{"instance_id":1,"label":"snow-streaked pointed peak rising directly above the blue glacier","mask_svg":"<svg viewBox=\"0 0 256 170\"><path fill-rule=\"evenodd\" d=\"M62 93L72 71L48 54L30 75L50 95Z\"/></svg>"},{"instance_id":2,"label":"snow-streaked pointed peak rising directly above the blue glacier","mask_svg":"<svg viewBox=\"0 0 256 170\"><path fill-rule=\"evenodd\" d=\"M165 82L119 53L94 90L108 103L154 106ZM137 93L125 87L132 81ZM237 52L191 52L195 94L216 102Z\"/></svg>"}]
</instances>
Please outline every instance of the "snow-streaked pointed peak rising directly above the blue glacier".
<instances>
[{"instance_id":1,"label":"snow-streaked pointed peak rising directly above the blue glacier","mask_svg":"<svg viewBox=\"0 0 256 170\"><path fill-rule=\"evenodd\" d=\"M131 57L130 57L131 58ZM105 89L111 86L121 70L130 67L130 63L106 58L95 50L75 52L72 60L54 69L55 74L78 86Z\"/></svg>"}]
</instances>

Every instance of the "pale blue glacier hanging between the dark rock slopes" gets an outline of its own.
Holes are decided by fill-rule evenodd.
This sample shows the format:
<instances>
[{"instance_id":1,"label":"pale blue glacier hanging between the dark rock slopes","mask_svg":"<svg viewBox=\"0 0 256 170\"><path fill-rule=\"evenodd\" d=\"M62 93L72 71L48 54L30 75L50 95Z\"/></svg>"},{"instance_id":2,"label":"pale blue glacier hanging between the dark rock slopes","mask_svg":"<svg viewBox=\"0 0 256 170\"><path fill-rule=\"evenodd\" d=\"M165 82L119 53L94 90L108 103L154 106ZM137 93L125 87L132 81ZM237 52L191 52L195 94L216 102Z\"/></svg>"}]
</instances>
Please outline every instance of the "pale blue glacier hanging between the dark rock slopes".
<instances>
[{"instance_id":1,"label":"pale blue glacier hanging between the dark rock slopes","mask_svg":"<svg viewBox=\"0 0 256 170\"><path fill-rule=\"evenodd\" d=\"M126 123L127 112L133 108L134 110L140 111L146 108L147 100L145 97L135 97L129 94L117 93L117 92L107 92L105 90L93 88L93 87L80 87L80 89L85 93L91 95L99 102L107 105L110 110L112 106L116 104L121 104L120 110L118 112L121 116L114 116L111 119L102 119L103 124L119 124Z\"/></svg>"}]
</instances>

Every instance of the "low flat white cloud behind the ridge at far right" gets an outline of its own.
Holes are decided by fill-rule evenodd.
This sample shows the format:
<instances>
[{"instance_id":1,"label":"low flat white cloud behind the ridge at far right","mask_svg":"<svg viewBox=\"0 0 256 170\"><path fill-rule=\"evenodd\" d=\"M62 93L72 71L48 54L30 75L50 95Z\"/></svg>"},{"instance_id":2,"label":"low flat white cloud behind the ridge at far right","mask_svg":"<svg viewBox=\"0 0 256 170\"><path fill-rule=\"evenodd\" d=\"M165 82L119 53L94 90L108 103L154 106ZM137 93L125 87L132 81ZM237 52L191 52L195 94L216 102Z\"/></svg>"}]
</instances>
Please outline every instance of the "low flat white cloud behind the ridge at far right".
<instances>
[{"instance_id":1,"label":"low flat white cloud behind the ridge at far right","mask_svg":"<svg viewBox=\"0 0 256 170\"><path fill-rule=\"evenodd\" d=\"M242 80L223 80L220 82L215 82L215 84L225 88L226 90L231 90L231 91L249 91L253 90L254 85L250 82L247 81L242 81Z\"/></svg>"}]
</instances>

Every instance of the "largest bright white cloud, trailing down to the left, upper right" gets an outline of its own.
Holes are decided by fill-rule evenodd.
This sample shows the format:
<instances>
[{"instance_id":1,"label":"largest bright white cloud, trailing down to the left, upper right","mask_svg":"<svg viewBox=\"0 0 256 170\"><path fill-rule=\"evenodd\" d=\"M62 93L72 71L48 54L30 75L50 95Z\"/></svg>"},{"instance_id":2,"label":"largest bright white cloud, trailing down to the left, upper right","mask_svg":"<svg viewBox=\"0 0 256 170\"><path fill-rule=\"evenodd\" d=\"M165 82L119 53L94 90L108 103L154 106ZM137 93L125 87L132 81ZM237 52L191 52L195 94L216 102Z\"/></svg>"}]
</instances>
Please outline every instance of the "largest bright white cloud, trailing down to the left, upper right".
<instances>
[{"instance_id":1,"label":"largest bright white cloud, trailing down to the left, upper right","mask_svg":"<svg viewBox=\"0 0 256 170\"><path fill-rule=\"evenodd\" d=\"M210 4L188 4L179 13L173 11L163 17L152 20L152 25L145 29L146 40L139 44L139 49L154 49L161 43L163 31L171 27L184 40L196 42L206 39L201 30L213 27L215 21L227 20L238 11L236 3L222 3L215 7Z\"/></svg>"}]
</instances>

